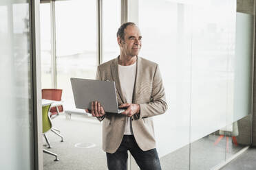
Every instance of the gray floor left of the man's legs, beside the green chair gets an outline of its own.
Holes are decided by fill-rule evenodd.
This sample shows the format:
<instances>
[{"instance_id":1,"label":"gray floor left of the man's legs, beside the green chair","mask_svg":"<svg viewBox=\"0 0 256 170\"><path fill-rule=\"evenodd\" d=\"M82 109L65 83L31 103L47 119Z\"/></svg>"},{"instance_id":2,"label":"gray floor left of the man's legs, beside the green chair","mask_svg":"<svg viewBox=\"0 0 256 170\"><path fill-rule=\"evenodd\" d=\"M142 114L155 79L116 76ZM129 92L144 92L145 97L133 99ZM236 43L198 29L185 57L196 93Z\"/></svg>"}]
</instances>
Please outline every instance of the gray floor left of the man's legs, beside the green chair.
<instances>
[{"instance_id":1,"label":"gray floor left of the man's legs, beside the green chair","mask_svg":"<svg viewBox=\"0 0 256 170\"><path fill-rule=\"evenodd\" d=\"M52 148L44 148L58 154L59 161L55 162L53 156L43 154L43 169L107 169L105 152L101 149L101 124L99 121L76 115L69 120L65 119L65 115L60 115L53 119L53 123L54 127L61 130L64 142L61 142L61 138L56 134L47 132ZM82 147L76 147L80 143ZM86 148L87 146L89 148Z\"/></svg>"}]
</instances>

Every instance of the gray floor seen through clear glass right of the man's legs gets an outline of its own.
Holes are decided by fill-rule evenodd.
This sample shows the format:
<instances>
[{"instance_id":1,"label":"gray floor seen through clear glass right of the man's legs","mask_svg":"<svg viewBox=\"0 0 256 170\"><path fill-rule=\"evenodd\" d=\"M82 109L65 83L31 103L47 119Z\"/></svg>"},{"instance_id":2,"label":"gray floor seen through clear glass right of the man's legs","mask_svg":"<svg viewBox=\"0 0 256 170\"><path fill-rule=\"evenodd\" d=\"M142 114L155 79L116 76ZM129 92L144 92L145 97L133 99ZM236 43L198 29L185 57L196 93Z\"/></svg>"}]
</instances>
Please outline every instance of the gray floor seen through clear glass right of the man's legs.
<instances>
[{"instance_id":1,"label":"gray floor seen through clear glass right of the man's legs","mask_svg":"<svg viewBox=\"0 0 256 170\"><path fill-rule=\"evenodd\" d=\"M191 145L186 145L160 158L162 169L210 170L243 148L243 146L234 145L231 140L228 140L227 148L225 138L222 138L219 143L214 145L219 137L218 135L212 134L205 136L191 143Z\"/></svg>"}]
</instances>

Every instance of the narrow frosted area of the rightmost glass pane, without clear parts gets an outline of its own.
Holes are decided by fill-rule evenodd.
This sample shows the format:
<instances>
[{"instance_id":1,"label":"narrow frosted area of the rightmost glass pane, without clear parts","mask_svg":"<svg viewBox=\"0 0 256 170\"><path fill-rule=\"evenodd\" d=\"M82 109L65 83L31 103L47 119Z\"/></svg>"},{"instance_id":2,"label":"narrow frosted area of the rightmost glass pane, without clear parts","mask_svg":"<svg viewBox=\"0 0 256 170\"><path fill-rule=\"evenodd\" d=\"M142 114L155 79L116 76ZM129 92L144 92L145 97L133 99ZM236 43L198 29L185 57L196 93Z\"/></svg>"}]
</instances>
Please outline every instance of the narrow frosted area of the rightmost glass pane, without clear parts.
<instances>
[{"instance_id":1,"label":"narrow frosted area of the rightmost glass pane, without clear parts","mask_svg":"<svg viewBox=\"0 0 256 170\"><path fill-rule=\"evenodd\" d=\"M234 114L228 123L246 117L251 111L253 15L237 12L235 42Z\"/></svg>"}]
</instances>

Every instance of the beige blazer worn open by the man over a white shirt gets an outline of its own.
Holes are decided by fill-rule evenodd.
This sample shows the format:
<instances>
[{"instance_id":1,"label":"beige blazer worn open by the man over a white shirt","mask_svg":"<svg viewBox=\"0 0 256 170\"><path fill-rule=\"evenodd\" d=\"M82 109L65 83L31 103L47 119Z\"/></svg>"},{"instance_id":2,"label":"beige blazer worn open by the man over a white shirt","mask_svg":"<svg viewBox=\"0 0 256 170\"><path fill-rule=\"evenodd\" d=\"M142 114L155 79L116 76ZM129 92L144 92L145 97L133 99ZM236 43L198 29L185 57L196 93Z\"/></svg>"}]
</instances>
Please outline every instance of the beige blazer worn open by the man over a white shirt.
<instances>
[{"instance_id":1,"label":"beige blazer worn open by the man over a white shirt","mask_svg":"<svg viewBox=\"0 0 256 170\"><path fill-rule=\"evenodd\" d=\"M132 103L140 104L140 114L134 114L131 118L131 126L138 146L143 151L147 151L156 148L152 117L164 113L167 110L167 102L158 64L140 57L136 64ZM114 81L118 105L127 103L120 88L118 58L100 64L96 79ZM114 153L122 141L126 117L122 114L106 113L101 120L103 120L103 150Z\"/></svg>"}]
</instances>

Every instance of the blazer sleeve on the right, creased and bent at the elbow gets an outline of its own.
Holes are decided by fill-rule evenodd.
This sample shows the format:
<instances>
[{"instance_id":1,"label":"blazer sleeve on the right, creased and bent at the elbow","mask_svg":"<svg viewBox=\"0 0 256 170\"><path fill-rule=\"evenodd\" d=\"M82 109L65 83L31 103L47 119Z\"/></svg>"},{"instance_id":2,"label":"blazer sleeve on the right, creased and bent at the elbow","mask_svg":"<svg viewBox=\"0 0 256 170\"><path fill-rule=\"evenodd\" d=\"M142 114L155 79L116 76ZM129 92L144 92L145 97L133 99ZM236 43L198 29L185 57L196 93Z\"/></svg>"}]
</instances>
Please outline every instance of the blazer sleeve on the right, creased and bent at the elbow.
<instances>
[{"instance_id":1,"label":"blazer sleeve on the right, creased and bent at the elbow","mask_svg":"<svg viewBox=\"0 0 256 170\"><path fill-rule=\"evenodd\" d=\"M140 113L138 119L153 117L163 114L168 106L165 99L164 85L160 74L159 66L156 66L156 71L153 76L151 101L147 104L140 104Z\"/></svg>"}]
</instances>

